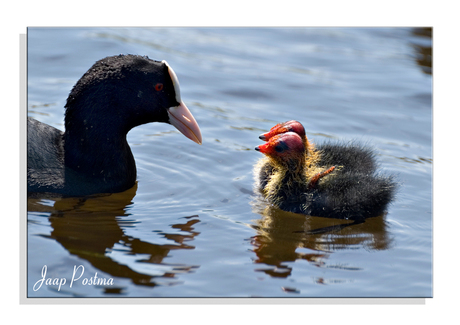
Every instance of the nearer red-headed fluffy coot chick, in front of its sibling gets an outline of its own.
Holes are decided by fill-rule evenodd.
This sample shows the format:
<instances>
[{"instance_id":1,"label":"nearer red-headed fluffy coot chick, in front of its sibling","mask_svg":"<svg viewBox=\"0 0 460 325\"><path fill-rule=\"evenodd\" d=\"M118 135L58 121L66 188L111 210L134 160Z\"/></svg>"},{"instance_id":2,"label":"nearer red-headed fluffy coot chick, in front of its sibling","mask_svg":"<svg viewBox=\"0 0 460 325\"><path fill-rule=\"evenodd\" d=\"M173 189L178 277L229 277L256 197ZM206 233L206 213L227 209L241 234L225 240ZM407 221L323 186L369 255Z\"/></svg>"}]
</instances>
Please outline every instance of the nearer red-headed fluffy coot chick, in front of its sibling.
<instances>
[{"instance_id":1,"label":"nearer red-headed fluffy coot chick, in front of its sibling","mask_svg":"<svg viewBox=\"0 0 460 325\"><path fill-rule=\"evenodd\" d=\"M362 173L357 166L342 169L309 165L304 141L297 133L275 135L255 149L267 156L271 168L267 173L261 169L264 165L256 165L255 173L261 180L258 189L281 210L363 220L383 214L393 198L392 177Z\"/></svg>"}]
</instances>

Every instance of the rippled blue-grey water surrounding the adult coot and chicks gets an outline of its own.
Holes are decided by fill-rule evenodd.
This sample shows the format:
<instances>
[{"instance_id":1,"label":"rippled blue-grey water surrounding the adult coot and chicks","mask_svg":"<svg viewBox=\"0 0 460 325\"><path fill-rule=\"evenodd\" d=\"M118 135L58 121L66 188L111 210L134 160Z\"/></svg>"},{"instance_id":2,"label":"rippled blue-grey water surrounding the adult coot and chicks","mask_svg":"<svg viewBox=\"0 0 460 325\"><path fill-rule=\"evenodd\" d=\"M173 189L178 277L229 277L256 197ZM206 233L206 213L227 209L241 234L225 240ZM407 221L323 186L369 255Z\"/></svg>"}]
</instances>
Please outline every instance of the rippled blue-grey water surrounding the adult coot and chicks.
<instances>
[{"instance_id":1,"label":"rippled blue-grey water surrounding the adult coot and chicks","mask_svg":"<svg viewBox=\"0 0 460 325\"><path fill-rule=\"evenodd\" d=\"M66 97L95 61L148 55L174 68L203 145L170 125L143 125L128 135L135 188L29 199L28 296L430 297L427 35L410 28L30 28L28 115L63 130ZM258 135L290 119L315 143L374 146L382 171L400 184L388 213L343 226L257 202Z\"/></svg>"}]
</instances>

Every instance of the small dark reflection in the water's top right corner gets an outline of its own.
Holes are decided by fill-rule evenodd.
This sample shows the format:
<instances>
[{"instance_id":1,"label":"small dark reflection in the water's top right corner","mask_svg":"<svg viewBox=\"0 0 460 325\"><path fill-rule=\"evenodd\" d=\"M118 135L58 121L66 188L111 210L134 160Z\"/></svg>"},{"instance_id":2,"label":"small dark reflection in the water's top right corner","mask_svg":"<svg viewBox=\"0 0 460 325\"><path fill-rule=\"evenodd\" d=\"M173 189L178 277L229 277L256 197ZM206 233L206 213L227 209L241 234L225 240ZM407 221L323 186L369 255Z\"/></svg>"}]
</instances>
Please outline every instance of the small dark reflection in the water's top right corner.
<instances>
[{"instance_id":1,"label":"small dark reflection in the water's top right corner","mask_svg":"<svg viewBox=\"0 0 460 325\"><path fill-rule=\"evenodd\" d=\"M416 51L416 62L424 73L431 75L433 66L433 29L431 27L417 27L412 29L412 34L421 40L421 42L412 43Z\"/></svg>"}]
</instances>

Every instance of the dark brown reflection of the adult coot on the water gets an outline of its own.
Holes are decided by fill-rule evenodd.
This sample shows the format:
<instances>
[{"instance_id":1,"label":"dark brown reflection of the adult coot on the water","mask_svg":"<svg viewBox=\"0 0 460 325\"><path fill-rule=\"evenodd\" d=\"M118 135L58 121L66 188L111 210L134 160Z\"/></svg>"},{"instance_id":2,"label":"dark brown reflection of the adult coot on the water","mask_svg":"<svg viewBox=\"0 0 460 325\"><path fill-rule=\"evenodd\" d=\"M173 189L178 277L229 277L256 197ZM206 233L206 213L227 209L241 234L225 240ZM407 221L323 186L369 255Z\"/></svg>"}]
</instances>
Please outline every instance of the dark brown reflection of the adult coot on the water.
<instances>
[{"instance_id":1,"label":"dark brown reflection of the adult coot on the water","mask_svg":"<svg viewBox=\"0 0 460 325\"><path fill-rule=\"evenodd\" d=\"M199 234L193 230L199 222L198 216L184 217L183 223L171 225L172 230L156 232L174 242L171 244L152 244L127 236L123 229L136 224L127 212L136 189L137 186L106 196L55 199L52 207L44 205L41 199L28 199L28 211L51 213L49 221L53 230L46 237L56 240L69 253L87 260L112 277L128 278L135 284L152 287L179 283L176 278L178 273L190 272L198 266L167 264L163 263L163 259L171 250L195 248L190 241ZM114 260L113 252L129 256L131 262L122 264ZM159 275L148 274L152 270L143 272L145 268L138 267L143 264L152 264L152 270ZM155 268L155 265L161 267ZM122 293L122 288L108 287L106 291Z\"/></svg>"}]
</instances>

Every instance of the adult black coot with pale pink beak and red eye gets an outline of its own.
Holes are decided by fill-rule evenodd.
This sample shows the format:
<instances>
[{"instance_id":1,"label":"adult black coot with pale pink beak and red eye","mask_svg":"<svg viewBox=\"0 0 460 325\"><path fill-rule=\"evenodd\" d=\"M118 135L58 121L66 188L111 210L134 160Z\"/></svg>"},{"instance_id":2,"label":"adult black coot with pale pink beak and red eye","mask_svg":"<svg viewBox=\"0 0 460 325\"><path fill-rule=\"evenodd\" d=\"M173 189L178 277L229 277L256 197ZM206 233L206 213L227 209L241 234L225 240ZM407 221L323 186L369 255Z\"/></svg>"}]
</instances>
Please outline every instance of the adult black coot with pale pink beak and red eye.
<instances>
[{"instance_id":1,"label":"adult black coot with pale pink beak and red eye","mask_svg":"<svg viewBox=\"0 0 460 325\"><path fill-rule=\"evenodd\" d=\"M126 141L138 125L163 122L201 144L166 61L119 55L97 61L65 105L65 132L28 118L27 190L83 196L134 186L136 164Z\"/></svg>"}]
</instances>

